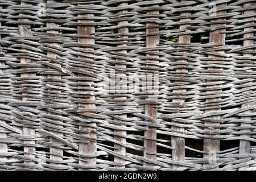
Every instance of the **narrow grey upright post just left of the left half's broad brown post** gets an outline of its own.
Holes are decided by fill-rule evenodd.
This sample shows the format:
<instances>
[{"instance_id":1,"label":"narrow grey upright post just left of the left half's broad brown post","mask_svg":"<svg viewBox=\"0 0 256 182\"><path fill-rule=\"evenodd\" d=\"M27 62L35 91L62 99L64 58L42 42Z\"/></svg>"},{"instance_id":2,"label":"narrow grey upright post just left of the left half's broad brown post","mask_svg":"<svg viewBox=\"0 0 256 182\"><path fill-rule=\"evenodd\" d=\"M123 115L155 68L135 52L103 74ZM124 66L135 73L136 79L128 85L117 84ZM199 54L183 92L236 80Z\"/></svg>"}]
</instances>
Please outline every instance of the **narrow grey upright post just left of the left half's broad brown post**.
<instances>
[{"instance_id":1,"label":"narrow grey upright post just left of the left half's broad brown post","mask_svg":"<svg viewBox=\"0 0 256 182\"><path fill-rule=\"evenodd\" d=\"M55 0L48 0L47 3L53 3L53 2L56 2ZM50 10L50 9L49 9ZM59 24L57 23L47 23L47 27L48 28L54 28L54 27L59 27ZM59 34L59 31L56 31L56 30L48 30L47 33L49 34ZM52 46L59 46L59 43L51 43ZM53 59L56 59L56 53L53 53L53 52L50 52L48 51L47 52L47 56L48 57L51 57ZM53 63L53 64L56 64L56 63ZM56 64L57 66L60 67L60 64ZM56 78L56 79L61 79L61 76L57 76L57 75L48 75L48 77L52 77L52 78ZM56 92L56 90L55 90ZM59 93L61 93L61 91L58 91ZM59 109L59 111L61 111L61 109ZM63 136L63 134L60 134L58 132L55 132L55 131L51 131L53 134L56 134L56 135L60 135L60 136ZM51 143L57 143L59 142L59 140L56 140L55 138L50 138L50 142ZM49 158L52 159L52 160L62 160L62 158L60 156L63 156L63 149L61 148L55 148L55 147L50 147L49 149L50 151L50 156ZM59 163L51 163L53 166L62 166L62 164L59 164Z\"/></svg>"}]
</instances>

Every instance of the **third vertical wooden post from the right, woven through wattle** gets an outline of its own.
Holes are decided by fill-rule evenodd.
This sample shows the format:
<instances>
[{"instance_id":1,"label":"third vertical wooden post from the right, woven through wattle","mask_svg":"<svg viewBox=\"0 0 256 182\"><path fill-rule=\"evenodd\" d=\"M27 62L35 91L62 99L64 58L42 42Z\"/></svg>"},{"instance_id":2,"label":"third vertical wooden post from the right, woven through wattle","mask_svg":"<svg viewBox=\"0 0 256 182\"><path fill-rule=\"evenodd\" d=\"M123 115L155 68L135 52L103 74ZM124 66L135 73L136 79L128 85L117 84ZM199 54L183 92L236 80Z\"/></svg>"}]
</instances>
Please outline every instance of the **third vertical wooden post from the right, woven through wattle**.
<instances>
[{"instance_id":1,"label":"third vertical wooden post from the right, woven through wattle","mask_svg":"<svg viewBox=\"0 0 256 182\"><path fill-rule=\"evenodd\" d=\"M184 0L182 1L184 2ZM181 13L181 16L189 16L191 15L190 12L184 12ZM189 21L191 20L190 18L185 18L185 19L181 19L180 21ZM180 30L184 30L184 31L189 31L187 28L189 27L189 24L183 24L179 27ZM190 43L190 34L187 35L180 35L179 36L179 43ZM180 63L186 63L187 60L177 60ZM180 68L180 69L176 69L176 75L177 77L184 77L186 76L186 74L188 73L187 69L185 68ZM173 91L174 93L183 93L183 92L187 92L187 89L176 89ZM184 99L180 99L180 98L175 98L172 100L172 102L174 102L175 104L181 104L183 103L185 100ZM176 126L172 126L173 130L176 131L184 131L183 128L180 127L176 127ZM174 147L174 150L172 150L172 159L176 160L176 161L184 161L185 159L185 139L181 138L181 137L172 137L171 138L171 144L172 147ZM173 168L177 168L179 166L173 165Z\"/></svg>"}]
</instances>

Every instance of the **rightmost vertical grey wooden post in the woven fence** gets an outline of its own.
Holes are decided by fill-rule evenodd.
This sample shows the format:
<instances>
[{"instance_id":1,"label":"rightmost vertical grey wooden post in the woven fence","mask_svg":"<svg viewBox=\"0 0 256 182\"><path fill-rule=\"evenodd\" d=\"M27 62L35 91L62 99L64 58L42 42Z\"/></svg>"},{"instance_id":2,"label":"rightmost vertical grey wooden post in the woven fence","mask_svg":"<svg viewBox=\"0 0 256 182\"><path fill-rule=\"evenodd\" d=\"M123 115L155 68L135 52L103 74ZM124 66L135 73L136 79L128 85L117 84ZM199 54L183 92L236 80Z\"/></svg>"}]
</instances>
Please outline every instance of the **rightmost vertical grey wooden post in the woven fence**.
<instances>
[{"instance_id":1,"label":"rightmost vertical grey wooden post in the woven fence","mask_svg":"<svg viewBox=\"0 0 256 182\"><path fill-rule=\"evenodd\" d=\"M255 2L249 2L249 3L245 3L243 5L243 7L253 7L255 6ZM246 10L244 11L244 14L254 14L255 13L255 10ZM252 22L248 22L248 23L245 23L245 25L250 25L252 24L254 21ZM246 27L244 28L243 30L244 31L250 31L250 30L253 30L254 27L251 26L251 27ZM246 40L243 40L243 46L251 46L254 44L254 32L249 32L249 33L246 33L246 34L243 34L243 38L251 38L251 39L246 39ZM251 53L243 53L243 56L245 57L252 57L253 54ZM245 69L248 69L248 71L251 71L249 68L247 67L244 67ZM253 82L248 82L247 84L253 84ZM245 91L243 92L243 94L249 94L251 93L252 90L248 90L248 91ZM250 102L249 103L246 103L246 104L243 104L242 107L247 107L247 106L250 106ZM251 113L251 110L247 110L245 111L245 113ZM245 119L245 121L251 121L251 117L242 117L243 119ZM247 124L247 123L241 123L241 126L250 126L250 124ZM250 129L243 129L241 130L243 132L250 132ZM245 135L241 135L241 137L246 137L246 138L249 138L250 135L249 134L245 134ZM239 154L250 154L250 141L248 140L240 140L240 148L239 148ZM244 166L244 167L241 167L239 168L238 170L242 171L246 168L248 168L249 166Z\"/></svg>"}]
</instances>

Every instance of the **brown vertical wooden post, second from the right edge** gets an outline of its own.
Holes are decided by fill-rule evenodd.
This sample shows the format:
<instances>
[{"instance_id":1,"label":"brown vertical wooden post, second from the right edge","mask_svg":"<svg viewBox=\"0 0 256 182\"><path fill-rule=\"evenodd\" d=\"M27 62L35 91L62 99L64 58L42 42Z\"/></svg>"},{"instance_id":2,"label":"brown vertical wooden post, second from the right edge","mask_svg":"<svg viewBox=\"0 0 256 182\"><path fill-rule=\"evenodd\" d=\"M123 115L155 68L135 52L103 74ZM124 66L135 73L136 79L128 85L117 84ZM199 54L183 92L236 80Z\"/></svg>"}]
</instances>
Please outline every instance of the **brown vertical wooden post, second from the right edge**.
<instances>
[{"instance_id":1,"label":"brown vertical wooden post, second from the right edge","mask_svg":"<svg viewBox=\"0 0 256 182\"><path fill-rule=\"evenodd\" d=\"M213 1L214 2L214 1ZM222 7L225 7L226 6L226 3L221 3L221 4L218 4L217 5L217 10L222 8ZM221 14L225 14L226 11L218 11L217 12L217 15L221 15ZM223 18L219 18L219 19L214 19L213 20L213 24L211 24L211 27L212 28L216 28L216 27L221 27L223 26L224 24L222 23L216 23L214 24L214 22L221 22L222 20L225 20ZM225 29L217 29L217 30L214 30L214 31L211 31L210 32L210 37L209 37L209 43L213 43L213 44L222 44L223 46L225 45L225 38L226 38L226 34L221 34L222 31L225 31ZM214 59L214 57L216 58L219 58L218 56L209 56L211 58ZM214 72L220 72L222 71L223 69L222 68L208 68L209 70L209 74L210 73L214 73ZM214 77L214 76L212 76ZM210 85L210 86L207 86L209 89L208 89L208 93L209 95L212 95L212 94L221 94L222 90L221 89L214 89L214 90L211 90L211 88L216 88L217 85ZM218 86L221 86L221 85L218 85ZM218 97L218 98L209 98L207 100L208 103L216 103L216 109L206 109L205 112L212 112L212 111L220 111L221 110L221 97ZM210 117L211 119L220 119L220 115L216 115L216 116L212 116ZM220 124L220 123L217 123L217 125ZM205 121L205 125L216 125L216 123L214 122L209 122L209 121ZM214 128L214 127L213 127ZM218 131L218 129L205 129L207 131ZM211 156L212 155L217 155L218 152L220 151L220 140L219 139L209 139L209 138L205 138L204 139L204 151L207 152L207 154L204 154L204 158L206 159L211 159ZM218 167L216 167L215 169L218 169Z\"/></svg>"}]
</instances>

